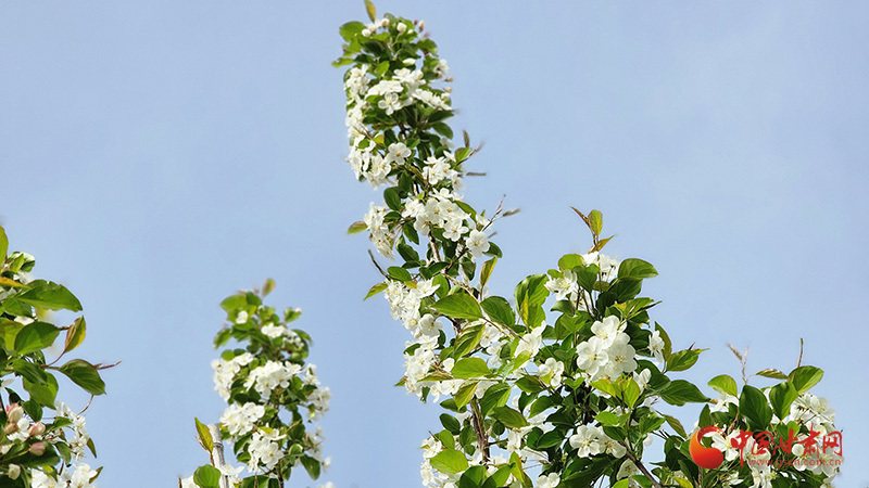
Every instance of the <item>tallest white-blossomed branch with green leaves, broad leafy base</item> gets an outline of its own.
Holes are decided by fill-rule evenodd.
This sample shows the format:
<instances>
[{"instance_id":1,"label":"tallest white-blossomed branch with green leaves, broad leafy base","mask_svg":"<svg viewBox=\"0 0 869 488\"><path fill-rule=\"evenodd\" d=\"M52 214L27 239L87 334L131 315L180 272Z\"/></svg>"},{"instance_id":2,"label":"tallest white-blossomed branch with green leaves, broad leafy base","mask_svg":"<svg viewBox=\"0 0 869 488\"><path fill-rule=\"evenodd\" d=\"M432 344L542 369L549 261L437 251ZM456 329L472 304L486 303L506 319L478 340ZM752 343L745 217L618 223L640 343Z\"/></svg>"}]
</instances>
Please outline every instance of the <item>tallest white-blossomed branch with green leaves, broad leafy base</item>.
<instances>
[{"instance_id":1,"label":"tallest white-blossomed branch with green leaves, broad leafy base","mask_svg":"<svg viewBox=\"0 0 869 488\"><path fill-rule=\"evenodd\" d=\"M820 380L811 367L778 373L783 382L763 391L746 385L740 393L730 376L718 376L709 386L729 397L717 402L671 377L703 350L673 350L651 321L657 303L640 294L657 271L641 259L602 254L610 237L601 235L597 210L575 209L592 234L585 254L565 255L557 269L529 275L512 300L491 295L488 282L501 257L491 226L509 213L499 205L487 218L461 193L465 165L478 150L467 133L463 147L452 142L448 65L421 22L378 20L370 3L368 12L369 24L341 27L344 52L335 65L349 66L347 160L357 180L386 189L383 202L371 203L349 232L367 231L382 258L399 261L377 264L385 280L368 296L382 292L392 318L411 333L400 384L445 409L443 429L423 442L425 486L552 488L607 477L619 487L700 486L690 436L663 406L708 402L701 425L731 429L794 422L806 435L830 420L822 402L797 395ZM556 317L546 317L547 303ZM789 409L797 410L788 419L784 418ZM815 420L801 423L801 415ZM666 460L650 466L643 453L655 437L664 440ZM738 484L767 487L754 474L738 471ZM828 481L794 468L778 475L806 486Z\"/></svg>"}]
</instances>

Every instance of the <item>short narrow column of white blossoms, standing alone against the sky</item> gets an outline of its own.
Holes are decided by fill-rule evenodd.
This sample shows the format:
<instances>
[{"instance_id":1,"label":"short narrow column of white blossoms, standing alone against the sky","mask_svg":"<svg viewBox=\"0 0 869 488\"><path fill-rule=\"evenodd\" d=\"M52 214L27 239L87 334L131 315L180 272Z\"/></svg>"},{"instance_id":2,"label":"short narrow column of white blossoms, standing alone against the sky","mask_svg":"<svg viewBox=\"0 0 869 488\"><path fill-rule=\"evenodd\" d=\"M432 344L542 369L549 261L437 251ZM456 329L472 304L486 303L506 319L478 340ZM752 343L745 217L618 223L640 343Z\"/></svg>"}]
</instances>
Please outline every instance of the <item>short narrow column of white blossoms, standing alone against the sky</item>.
<instances>
[{"instance_id":1,"label":"short narrow column of white blossoms, standing alone against the sky","mask_svg":"<svg viewBox=\"0 0 869 488\"><path fill-rule=\"evenodd\" d=\"M320 386L316 367L305 363L311 337L289 326L301 310L287 308L278 313L263 304L272 288L274 282L268 280L262 291L241 292L221 304L228 324L217 333L215 347L229 341L245 347L226 349L212 361L214 389L229 403L221 415L219 431L244 465L205 465L197 473L213 471L231 486L245 479L262 486L269 479L282 483L299 465L316 479L330 462L323 454L319 426L308 429L306 425L329 409L331 393ZM209 449L214 440L211 434L200 431L199 435ZM240 478L244 468L250 476ZM181 483L198 486L197 475Z\"/></svg>"}]
</instances>

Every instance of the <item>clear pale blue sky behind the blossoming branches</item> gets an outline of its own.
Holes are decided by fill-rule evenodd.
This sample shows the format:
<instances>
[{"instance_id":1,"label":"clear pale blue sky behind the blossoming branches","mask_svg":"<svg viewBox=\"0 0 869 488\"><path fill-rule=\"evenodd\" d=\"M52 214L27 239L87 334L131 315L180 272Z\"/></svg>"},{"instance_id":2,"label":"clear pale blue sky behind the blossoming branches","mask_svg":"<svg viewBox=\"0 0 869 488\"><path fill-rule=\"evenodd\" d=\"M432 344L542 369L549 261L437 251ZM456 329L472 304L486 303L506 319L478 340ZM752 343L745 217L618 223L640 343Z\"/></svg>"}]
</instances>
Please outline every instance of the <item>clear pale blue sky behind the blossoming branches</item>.
<instances>
[{"instance_id":1,"label":"clear pale blue sky behind the blossoming branches","mask_svg":"<svg viewBox=\"0 0 869 488\"><path fill-rule=\"evenodd\" d=\"M869 5L861 2L378 2L425 20L450 62L455 129L484 141L467 198L521 213L494 241L511 295L588 235L652 261L653 319L708 347L685 377L796 362L827 375L840 487L869 459ZM434 406L391 385L406 332L380 300L368 202L342 157L341 2L0 3L0 222L81 299L109 395L88 426L101 486L173 486L207 461L217 304L272 277L333 393L340 488L416 486ZM765 385L764 382L757 384ZM84 406L71 385L61 395ZM684 423L692 411L680 413ZM303 476L290 486L308 486Z\"/></svg>"}]
</instances>

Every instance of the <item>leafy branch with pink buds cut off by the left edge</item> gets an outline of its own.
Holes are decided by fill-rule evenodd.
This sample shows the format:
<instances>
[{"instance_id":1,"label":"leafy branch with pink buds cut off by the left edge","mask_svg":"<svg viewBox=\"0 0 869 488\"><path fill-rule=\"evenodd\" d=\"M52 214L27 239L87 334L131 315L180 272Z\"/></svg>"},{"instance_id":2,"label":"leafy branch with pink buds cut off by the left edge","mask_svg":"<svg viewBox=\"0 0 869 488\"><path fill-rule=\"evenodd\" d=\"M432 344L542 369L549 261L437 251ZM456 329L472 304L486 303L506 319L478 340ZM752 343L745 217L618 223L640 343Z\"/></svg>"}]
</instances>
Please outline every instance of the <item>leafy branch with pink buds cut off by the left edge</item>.
<instances>
[{"instance_id":1,"label":"leafy branch with pink buds cut off by the left edge","mask_svg":"<svg viewBox=\"0 0 869 488\"><path fill-rule=\"evenodd\" d=\"M85 318L68 325L52 323L51 312L80 312L81 304L65 286L30 275L36 260L27 253L9 253L0 227L0 486L87 487L99 475L84 459L96 455L85 418L58 399L58 376L85 391L105 393L100 370L83 359L62 359L85 339ZM63 336L60 355L58 337ZM20 382L18 382L20 380ZM24 395L24 396L22 396ZM3 399L5 396L5 400Z\"/></svg>"}]
</instances>

